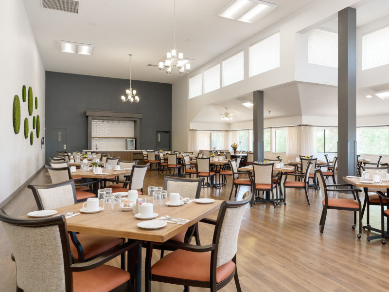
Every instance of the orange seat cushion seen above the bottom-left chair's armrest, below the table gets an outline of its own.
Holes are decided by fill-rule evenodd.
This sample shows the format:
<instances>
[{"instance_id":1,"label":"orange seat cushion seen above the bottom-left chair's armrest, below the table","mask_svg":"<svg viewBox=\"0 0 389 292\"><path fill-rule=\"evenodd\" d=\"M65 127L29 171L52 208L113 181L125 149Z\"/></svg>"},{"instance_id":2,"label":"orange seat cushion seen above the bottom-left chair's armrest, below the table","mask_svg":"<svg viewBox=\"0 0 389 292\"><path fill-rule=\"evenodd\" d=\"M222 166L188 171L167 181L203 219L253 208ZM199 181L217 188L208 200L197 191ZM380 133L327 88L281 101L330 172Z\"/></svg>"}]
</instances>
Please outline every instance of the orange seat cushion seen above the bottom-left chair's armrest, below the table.
<instances>
[{"instance_id":1,"label":"orange seat cushion seen above the bottom-left chair's armrest, below the table","mask_svg":"<svg viewBox=\"0 0 389 292\"><path fill-rule=\"evenodd\" d=\"M123 242L122 238L79 233L77 239L84 250L84 258L97 256ZM69 236L70 250L74 258L78 258L77 249Z\"/></svg>"}]
</instances>

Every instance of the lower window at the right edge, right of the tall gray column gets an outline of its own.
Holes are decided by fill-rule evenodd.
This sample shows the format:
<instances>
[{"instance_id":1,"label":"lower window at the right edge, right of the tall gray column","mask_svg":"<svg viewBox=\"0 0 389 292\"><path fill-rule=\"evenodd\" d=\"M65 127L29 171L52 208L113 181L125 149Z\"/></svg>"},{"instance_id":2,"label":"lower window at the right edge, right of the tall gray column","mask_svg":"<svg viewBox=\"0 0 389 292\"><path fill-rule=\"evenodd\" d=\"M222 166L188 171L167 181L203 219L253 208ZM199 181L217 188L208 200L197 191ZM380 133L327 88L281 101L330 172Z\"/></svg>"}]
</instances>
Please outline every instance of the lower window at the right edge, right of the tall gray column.
<instances>
[{"instance_id":1,"label":"lower window at the right edge, right of the tall gray column","mask_svg":"<svg viewBox=\"0 0 389 292\"><path fill-rule=\"evenodd\" d=\"M359 128L358 153L389 154L389 127Z\"/></svg>"}]
</instances>

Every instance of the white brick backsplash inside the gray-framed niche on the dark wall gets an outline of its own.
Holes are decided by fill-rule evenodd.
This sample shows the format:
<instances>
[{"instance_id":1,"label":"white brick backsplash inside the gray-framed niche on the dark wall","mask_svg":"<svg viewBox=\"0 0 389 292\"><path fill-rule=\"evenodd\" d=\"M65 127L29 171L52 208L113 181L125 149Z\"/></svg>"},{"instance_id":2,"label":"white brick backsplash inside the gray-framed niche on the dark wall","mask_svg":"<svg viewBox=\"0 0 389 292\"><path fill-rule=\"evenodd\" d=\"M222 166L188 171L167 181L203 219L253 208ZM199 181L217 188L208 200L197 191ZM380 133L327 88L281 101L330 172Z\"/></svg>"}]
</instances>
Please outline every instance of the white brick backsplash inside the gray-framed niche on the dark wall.
<instances>
[{"instance_id":1,"label":"white brick backsplash inside the gray-framed niche on the dark wall","mask_svg":"<svg viewBox=\"0 0 389 292\"><path fill-rule=\"evenodd\" d=\"M92 119L92 137L123 137L92 138L92 149L125 150L125 138L135 137L133 121L96 120Z\"/></svg>"}]
</instances>

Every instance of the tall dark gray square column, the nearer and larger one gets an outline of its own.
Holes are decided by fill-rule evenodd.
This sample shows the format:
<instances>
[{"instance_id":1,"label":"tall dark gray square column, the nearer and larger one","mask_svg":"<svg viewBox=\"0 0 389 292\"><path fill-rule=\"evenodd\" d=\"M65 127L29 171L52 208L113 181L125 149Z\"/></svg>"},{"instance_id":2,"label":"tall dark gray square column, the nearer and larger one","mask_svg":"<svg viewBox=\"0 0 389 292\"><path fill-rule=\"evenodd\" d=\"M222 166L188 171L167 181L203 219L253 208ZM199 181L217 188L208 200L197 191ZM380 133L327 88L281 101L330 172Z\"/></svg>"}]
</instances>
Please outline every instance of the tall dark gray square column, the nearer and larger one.
<instances>
[{"instance_id":1,"label":"tall dark gray square column, the nearer and larger one","mask_svg":"<svg viewBox=\"0 0 389 292\"><path fill-rule=\"evenodd\" d=\"M337 182L356 175L356 9L338 12ZM323 101L324 102L324 101Z\"/></svg>"}]
</instances>

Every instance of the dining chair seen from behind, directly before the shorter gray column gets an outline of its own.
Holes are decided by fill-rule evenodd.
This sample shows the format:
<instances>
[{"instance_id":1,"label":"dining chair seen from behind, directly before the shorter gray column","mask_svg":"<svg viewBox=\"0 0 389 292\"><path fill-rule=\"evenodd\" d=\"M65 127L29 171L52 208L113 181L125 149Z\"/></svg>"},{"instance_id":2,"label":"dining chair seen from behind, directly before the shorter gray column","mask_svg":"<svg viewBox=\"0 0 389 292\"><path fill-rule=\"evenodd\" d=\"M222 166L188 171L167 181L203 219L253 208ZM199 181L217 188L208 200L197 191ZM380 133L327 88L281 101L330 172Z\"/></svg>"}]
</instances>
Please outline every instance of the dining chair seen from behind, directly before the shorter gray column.
<instances>
[{"instance_id":1,"label":"dining chair seen from behind, directly before the shorter gray column","mask_svg":"<svg viewBox=\"0 0 389 292\"><path fill-rule=\"evenodd\" d=\"M273 190L276 189L276 196L278 197L278 190L277 190L277 184L273 183L273 167L274 163L252 163L253 167L253 180L252 180L252 191L253 196L251 200L251 208L252 205L257 201L263 201L261 200L255 200L256 199L256 193L259 191L263 192L270 192L272 201L273 201L273 207L274 210L276 209L276 201L274 200L274 192Z\"/></svg>"}]
</instances>

